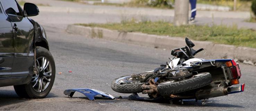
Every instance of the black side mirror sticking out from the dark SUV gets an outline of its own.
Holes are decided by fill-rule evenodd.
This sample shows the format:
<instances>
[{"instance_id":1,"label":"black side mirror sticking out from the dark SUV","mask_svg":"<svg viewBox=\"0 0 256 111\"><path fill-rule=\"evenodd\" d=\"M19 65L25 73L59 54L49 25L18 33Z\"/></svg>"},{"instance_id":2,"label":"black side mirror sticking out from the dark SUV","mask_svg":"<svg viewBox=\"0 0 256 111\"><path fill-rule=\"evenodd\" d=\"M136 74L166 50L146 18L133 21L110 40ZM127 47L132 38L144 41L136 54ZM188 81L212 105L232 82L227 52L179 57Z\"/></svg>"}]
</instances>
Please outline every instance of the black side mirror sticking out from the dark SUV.
<instances>
[{"instance_id":1,"label":"black side mirror sticking out from the dark SUV","mask_svg":"<svg viewBox=\"0 0 256 111\"><path fill-rule=\"evenodd\" d=\"M23 10L25 11L25 16L36 16L39 14L38 7L33 3L25 3Z\"/></svg>"}]
</instances>

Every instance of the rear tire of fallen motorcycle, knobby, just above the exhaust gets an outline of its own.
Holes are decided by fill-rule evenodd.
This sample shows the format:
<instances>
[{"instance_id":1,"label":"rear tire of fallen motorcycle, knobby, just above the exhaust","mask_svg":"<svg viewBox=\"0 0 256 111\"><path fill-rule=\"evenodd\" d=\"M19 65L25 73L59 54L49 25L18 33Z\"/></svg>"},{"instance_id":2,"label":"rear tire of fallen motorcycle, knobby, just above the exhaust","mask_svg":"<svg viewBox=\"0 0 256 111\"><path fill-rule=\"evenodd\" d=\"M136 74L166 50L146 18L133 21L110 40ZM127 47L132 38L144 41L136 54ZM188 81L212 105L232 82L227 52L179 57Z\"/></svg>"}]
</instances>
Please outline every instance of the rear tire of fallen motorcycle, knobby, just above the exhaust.
<instances>
[{"instance_id":1,"label":"rear tire of fallen motorcycle, knobby, just above the exhaust","mask_svg":"<svg viewBox=\"0 0 256 111\"><path fill-rule=\"evenodd\" d=\"M157 91L161 95L176 94L200 88L212 82L212 76L209 72L203 72L199 74L202 75L173 83L161 83L157 86Z\"/></svg>"}]
</instances>

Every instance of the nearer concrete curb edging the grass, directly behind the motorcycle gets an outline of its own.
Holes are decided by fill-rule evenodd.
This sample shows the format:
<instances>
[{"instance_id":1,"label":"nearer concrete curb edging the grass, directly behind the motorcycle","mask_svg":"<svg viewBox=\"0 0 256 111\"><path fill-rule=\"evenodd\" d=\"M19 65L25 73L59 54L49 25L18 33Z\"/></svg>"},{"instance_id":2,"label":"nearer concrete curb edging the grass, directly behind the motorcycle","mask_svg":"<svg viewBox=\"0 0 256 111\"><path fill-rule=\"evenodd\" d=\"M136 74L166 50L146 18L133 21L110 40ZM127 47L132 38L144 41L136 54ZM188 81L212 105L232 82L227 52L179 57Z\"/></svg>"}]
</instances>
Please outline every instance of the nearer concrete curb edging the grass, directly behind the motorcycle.
<instances>
[{"instance_id":1,"label":"nearer concrete curb edging the grass, directly behind the motorcycle","mask_svg":"<svg viewBox=\"0 0 256 111\"><path fill-rule=\"evenodd\" d=\"M149 35L136 32L118 32L105 28L92 28L79 25L68 25L67 32L83 35L85 37L97 37L112 41L152 46L155 48L174 49L186 45L185 39L181 37ZM256 64L256 49L236 47L233 45L214 44L206 41L193 40L193 43L196 44L194 49L206 49L206 56L211 59L231 58L246 64Z\"/></svg>"}]
</instances>

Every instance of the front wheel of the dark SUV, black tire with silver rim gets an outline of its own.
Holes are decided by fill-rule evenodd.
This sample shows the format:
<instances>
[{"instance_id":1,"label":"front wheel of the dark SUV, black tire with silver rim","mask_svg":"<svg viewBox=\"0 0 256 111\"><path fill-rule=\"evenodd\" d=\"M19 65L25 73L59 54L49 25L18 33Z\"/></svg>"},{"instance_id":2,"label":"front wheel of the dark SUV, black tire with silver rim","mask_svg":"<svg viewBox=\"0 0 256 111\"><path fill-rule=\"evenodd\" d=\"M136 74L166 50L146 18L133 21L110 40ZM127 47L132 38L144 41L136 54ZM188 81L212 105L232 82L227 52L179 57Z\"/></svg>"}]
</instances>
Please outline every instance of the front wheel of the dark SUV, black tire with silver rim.
<instances>
[{"instance_id":1,"label":"front wheel of the dark SUV, black tire with silver rim","mask_svg":"<svg viewBox=\"0 0 256 111\"><path fill-rule=\"evenodd\" d=\"M44 63L46 64L44 65ZM14 86L19 97L40 99L47 96L51 91L55 79L55 63L49 50L39 46L36 47L36 68L34 67L33 77L28 84Z\"/></svg>"}]
</instances>

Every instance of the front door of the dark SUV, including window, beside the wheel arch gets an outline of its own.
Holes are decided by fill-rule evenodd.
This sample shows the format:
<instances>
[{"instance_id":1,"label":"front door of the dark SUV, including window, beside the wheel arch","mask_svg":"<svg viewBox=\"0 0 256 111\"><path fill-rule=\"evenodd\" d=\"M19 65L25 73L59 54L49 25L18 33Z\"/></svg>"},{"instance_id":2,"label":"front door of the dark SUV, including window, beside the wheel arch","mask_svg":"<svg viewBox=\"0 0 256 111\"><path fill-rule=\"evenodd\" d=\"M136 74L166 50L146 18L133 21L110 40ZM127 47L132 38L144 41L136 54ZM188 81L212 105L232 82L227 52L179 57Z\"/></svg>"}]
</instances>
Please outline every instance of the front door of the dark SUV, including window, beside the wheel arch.
<instances>
[{"instance_id":1,"label":"front door of the dark SUV, including window, beside the wheel arch","mask_svg":"<svg viewBox=\"0 0 256 111\"><path fill-rule=\"evenodd\" d=\"M6 15L13 27L14 33L14 61L12 65L12 77L27 76L29 71L33 72L34 53L33 37L34 27L23 9L16 0L1 0Z\"/></svg>"}]
</instances>

